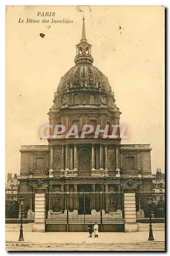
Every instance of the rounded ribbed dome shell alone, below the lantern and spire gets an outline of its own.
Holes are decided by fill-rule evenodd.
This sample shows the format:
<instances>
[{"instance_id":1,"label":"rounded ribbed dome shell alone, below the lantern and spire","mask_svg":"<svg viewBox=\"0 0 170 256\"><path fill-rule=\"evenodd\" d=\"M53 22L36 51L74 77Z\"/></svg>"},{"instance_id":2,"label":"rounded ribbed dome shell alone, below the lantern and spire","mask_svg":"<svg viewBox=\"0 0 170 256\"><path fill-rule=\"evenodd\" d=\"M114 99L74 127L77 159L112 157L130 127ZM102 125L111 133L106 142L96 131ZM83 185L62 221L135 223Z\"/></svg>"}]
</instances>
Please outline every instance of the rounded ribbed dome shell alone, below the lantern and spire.
<instances>
[{"instance_id":1,"label":"rounded ribbed dome shell alone, below the lantern and spire","mask_svg":"<svg viewBox=\"0 0 170 256\"><path fill-rule=\"evenodd\" d=\"M108 78L96 67L79 63L72 67L59 82L57 95L63 95L69 91L101 91L111 94L111 86Z\"/></svg>"}]
</instances>

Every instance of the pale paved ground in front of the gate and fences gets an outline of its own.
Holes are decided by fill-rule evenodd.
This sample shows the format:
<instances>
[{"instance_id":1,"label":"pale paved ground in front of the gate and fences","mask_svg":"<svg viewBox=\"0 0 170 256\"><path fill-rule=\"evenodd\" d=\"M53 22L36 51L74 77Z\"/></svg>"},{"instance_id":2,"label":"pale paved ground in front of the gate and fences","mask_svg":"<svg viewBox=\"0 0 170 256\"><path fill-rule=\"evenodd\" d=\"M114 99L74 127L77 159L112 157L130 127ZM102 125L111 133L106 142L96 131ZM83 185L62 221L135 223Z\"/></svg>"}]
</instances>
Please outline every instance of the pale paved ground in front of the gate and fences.
<instances>
[{"instance_id":1,"label":"pale paved ground in front of the gate and fences","mask_svg":"<svg viewBox=\"0 0 170 256\"><path fill-rule=\"evenodd\" d=\"M148 241L149 232L103 232L89 238L86 232L6 232L6 250L30 251L164 251L164 231L154 231L155 241Z\"/></svg>"}]
</instances>

